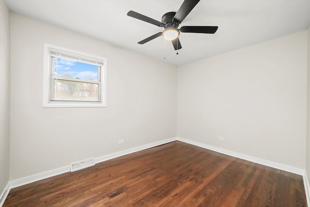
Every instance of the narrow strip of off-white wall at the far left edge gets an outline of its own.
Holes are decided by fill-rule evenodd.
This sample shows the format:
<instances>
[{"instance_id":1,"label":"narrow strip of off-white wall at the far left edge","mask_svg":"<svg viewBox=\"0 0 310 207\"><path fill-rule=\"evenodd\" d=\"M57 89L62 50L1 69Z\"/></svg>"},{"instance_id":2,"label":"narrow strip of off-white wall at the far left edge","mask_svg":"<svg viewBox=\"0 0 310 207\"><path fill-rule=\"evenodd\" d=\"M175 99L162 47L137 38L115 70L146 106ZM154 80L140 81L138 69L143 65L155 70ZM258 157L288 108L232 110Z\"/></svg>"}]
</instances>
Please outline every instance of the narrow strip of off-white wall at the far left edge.
<instances>
[{"instance_id":1,"label":"narrow strip of off-white wall at the far left edge","mask_svg":"<svg viewBox=\"0 0 310 207\"><path fill-rule=\"evenodd\" d=\"M10 171L10 12L0 0L0 195ZM1 197L0 197L1 198ZM1 203L1 202L0 202Z\"/></svg>"}]
</instances>

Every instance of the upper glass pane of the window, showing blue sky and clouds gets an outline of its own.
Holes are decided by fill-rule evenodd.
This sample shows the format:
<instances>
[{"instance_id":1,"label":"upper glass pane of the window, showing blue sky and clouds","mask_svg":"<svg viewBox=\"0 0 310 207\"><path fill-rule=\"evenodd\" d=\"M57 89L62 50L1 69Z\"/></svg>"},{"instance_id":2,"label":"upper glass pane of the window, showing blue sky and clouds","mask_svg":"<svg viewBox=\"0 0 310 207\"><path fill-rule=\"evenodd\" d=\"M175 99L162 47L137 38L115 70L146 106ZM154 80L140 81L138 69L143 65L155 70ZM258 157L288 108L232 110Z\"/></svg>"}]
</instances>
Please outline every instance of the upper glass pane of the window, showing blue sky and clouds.
<instances>
[{"instance_id":1,"label":"upper glass pane of the window, showing blue sky and clouds","mask_svg":"<svg viewBox=\"0 0 310 207\"><path fill-rule=\"evenodd\" d=\"M98 80L98 66L55 57L54 74L74 79Z\"/></svg>"}]
</instances>

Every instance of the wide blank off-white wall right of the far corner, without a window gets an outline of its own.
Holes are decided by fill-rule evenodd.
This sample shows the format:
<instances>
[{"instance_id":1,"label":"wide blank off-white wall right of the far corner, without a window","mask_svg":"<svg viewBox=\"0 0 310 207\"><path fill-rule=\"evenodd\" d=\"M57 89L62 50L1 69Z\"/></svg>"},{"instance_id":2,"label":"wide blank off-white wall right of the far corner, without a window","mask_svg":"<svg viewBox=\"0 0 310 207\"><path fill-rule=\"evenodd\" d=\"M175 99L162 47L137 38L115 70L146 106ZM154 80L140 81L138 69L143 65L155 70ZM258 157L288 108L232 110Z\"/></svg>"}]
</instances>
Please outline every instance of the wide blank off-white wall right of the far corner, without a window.
<instances>
[{"instance_id":1,"label":"wide blank off-white wall right of the far corner, without a window","mask_svg":"<svg viewBox=\"0 0 310 207\"><path fill-rule=\"evenodd\" d=\"M180 66L177 136L305 169L307 33Z\"/></svg>"}]
</instances>

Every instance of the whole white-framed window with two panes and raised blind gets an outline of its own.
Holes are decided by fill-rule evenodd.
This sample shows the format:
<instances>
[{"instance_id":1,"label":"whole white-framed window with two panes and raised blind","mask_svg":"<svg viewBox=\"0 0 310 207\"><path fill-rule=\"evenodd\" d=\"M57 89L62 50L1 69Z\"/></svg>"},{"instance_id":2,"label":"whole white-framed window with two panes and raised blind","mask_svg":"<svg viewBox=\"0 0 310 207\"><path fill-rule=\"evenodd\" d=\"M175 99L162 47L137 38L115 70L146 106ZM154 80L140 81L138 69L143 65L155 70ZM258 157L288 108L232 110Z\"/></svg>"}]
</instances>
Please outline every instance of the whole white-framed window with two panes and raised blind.
<instances>
[{"instance_id":1,"label":"whole white-framed window with two panes and raised blind","mask_svg":"<svg viewBox=\"0 0 310 207\"><path fill-rule=\"evenodd\" d=\"M105 107L107 59L44 44L43 107Z\"/></svg>"}]
</instances>

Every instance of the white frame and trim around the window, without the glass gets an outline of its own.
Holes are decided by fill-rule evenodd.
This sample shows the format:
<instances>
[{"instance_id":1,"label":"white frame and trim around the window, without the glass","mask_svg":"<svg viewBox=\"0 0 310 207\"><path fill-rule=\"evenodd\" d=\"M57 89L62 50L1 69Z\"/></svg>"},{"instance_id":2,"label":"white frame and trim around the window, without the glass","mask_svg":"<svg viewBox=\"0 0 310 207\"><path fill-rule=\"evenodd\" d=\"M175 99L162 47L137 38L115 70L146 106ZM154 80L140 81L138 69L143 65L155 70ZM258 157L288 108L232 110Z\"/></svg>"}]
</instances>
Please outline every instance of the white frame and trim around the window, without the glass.
<instances>
[{"instance_id":1,"label":"white frame and trim around the window, without the glass","mask_svg":"<svg viewBox=\"0 0 310 207\"><path fill-rule=\"evenodd\" d=\"M101 71L98 71L100 77L100 87L98 89L100 97L99 101L62 101L53 100L51 96L51 91L54 90L53 72L52 67L52 53L59 51L62 54L70 54L81 60L81 62L98 62L102 63ZM106 107L107 106L107 58L102 58L95 55L90 55L84 52L75 51L72 49L62 48L50 44L44 44L44 60L43 60L43 107ZM65 79L65 78L62 78ZM84 81L84 80L83 80ZM88 80L92 82L91 80Z\"/></svg>"}]
</instances>

